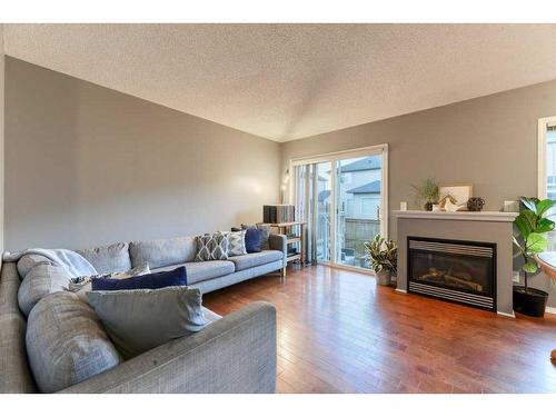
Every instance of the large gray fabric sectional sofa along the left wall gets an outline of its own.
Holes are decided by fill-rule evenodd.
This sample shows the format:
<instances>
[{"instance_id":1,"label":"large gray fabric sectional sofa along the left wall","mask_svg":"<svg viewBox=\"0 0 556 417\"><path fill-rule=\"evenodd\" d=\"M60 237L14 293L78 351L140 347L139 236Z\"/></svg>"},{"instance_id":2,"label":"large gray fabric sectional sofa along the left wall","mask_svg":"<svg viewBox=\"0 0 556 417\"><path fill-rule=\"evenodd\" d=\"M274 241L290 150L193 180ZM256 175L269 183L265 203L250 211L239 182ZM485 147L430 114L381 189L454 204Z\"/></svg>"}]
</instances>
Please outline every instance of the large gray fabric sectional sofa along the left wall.
<instances>
[{"instance_id":1,"label":"large gray fabric sectional sofa along the left wall","mask_svg":"<svg viewBox=\"0 0 556 417\"><path fill-rule=\"evenodd\" d=\"M195 237L180 237L120 242L78 252L100 274L126 271L145 262L152 271L185 266L188 285L205 294L272 271L285 276L285 236L270 235L268 248L258 254L200 262L193 261L195 241ZM63 291L68 279L62 268L37 255L2 265L0 393L39 391L33 378L37 369L31 369L28 360L27 346L33 340L29 336L26 340L27 319L34 305ZM85 301L75 297L71 302ZM88 315L95 314L89 306L79 307ZM207 314L214 321L199 332L121 360L85 380L80 380L79 375L64 375L76 383L61 393L274 393L275 307L254 302L221 318L209 310ZM92 320L100 322L98 318ZM99 328L102 328L100 324Z\"/></svg>"}]
</instances>

